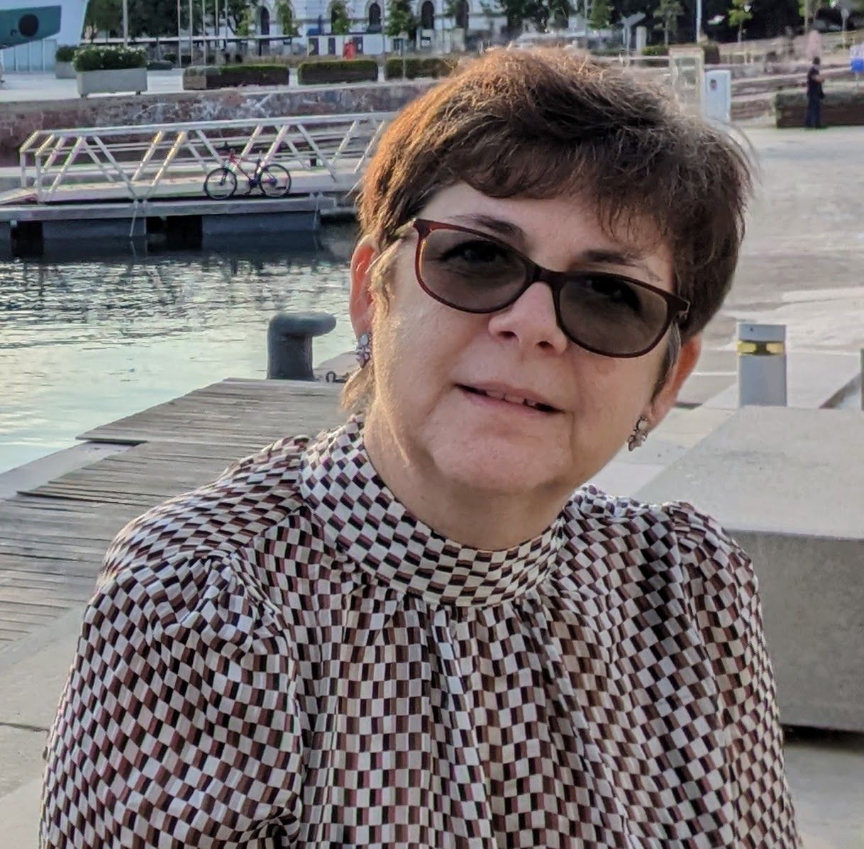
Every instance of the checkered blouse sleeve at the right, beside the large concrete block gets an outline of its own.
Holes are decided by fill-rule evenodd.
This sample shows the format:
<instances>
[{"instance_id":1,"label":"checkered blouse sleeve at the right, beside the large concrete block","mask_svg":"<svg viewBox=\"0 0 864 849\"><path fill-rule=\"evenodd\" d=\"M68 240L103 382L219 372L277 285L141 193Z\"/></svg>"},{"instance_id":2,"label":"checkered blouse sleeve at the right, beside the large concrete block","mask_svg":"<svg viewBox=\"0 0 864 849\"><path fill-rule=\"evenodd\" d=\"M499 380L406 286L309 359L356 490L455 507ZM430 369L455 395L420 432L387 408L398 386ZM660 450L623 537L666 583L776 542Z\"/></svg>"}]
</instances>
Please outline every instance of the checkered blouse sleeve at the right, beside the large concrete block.
<instances>
[{"instance_id":1,"label":"checkered blouse sleeve at the right, beside the large concrete block","mask_svg":"<svg viewBox=\"0 0 864 849\"><path fill-rule=\"evenodd\" d=\"M750 558L689 504L673 509L696 619L720 688L736 849L798 849L774 676Z\"/></svg>"}]
</instances>

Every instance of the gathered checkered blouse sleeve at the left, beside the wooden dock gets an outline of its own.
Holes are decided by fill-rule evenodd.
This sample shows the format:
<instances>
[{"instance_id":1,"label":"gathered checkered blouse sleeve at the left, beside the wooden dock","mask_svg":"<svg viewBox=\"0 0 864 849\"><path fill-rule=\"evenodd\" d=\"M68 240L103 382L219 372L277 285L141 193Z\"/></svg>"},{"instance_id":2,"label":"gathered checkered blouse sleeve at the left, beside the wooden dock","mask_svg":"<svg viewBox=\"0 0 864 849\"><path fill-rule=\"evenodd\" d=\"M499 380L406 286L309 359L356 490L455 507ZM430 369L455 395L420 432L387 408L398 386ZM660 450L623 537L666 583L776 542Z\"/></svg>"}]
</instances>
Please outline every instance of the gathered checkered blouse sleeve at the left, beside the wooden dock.
<instances>
[{"instance_id":1,"label":"gathered checkered blouse sleeve at the left, beside the wooden dock","mask_svg":"<svg viewBox=\"0 0 864 849\"><path fill-rule=\"evenodd\" d=\"M88 605L48 737L43 849L290 845L294 662L232 556L124 569Z\"/></svg>"}]
</instances>

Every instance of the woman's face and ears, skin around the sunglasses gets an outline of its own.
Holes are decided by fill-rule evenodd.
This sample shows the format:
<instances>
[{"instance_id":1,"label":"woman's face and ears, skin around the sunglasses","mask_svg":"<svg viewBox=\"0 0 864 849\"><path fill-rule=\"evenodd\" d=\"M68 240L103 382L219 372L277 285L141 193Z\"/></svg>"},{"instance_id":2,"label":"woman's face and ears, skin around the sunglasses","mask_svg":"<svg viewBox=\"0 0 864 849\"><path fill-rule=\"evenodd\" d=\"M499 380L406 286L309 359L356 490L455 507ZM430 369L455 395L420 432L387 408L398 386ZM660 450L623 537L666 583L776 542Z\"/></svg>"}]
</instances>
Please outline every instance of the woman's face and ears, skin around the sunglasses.
<instances>
[{"instance_id":1,"label":"woman's face and ears, skin around the sunglasses","mask_svg":"<svg viewBox=\"0 0 864 849\"><path fill-rule=\"evenodd\" d=\"M522 235L501 236L475 216ZM421 217L487 231L548 269L618 272L672 290L664 244L648 232L608 235L580 200L501 200L461 183L435 194ZM665 340L638 358L588 352L557 326L542 282L498 313L446 307L416 281L417 238L410 230L397 246L387 309L368 293L373 248L361 244L352 265L354 329L372 329L376 394L368 421L416 470L490 495L566 494L607 464L640 415L656 424L674 402L686 375L674 375L652 401ZM685 364L692 353L685 345ZM476 390L530 396L555 412Z\"/></svg>"}]
</instances>

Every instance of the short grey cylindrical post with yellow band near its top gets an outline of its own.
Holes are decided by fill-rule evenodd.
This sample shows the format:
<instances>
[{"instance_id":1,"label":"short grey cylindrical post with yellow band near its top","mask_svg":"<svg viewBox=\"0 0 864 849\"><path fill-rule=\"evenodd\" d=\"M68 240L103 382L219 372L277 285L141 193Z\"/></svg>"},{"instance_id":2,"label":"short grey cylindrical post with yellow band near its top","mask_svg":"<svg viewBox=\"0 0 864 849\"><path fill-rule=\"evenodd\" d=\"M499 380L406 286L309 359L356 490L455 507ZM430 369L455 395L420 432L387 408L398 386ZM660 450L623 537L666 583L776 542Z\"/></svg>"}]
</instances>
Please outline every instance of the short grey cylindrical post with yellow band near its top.
<instances>
[{"instance_id":1,"label":"short grey cylindrical post with yellow band near its top","mask_svg":"<svg viewBox=\"0 0 864 849\"><path fill-rule=\"evenodd\" d=\"M738 406L786 406L786 326L738 322Z\"/></svg>"}]
</instances>

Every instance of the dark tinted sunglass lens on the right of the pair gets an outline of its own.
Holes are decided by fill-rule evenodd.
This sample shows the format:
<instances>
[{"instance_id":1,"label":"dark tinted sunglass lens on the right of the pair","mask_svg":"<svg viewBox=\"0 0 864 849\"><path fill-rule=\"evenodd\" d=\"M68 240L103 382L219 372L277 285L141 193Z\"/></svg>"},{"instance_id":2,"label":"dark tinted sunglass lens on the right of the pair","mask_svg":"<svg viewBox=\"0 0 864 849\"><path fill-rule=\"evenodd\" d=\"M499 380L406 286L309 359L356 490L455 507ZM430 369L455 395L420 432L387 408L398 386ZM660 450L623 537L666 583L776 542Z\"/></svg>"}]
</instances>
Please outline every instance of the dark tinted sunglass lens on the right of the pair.
<instances>
[{"instance_id":1,"label":"dark tinted sunglass lens on the right of the pair","mask_svg":"<svg viewBox=\"0 0 864 849\"><path fill-rule=\"evenodd\" d=\"M666 326L662 295L614 275L579 275L562 288L561 319L577 342L610 356L645 351Z\"/></svg>"}]
</instances>

